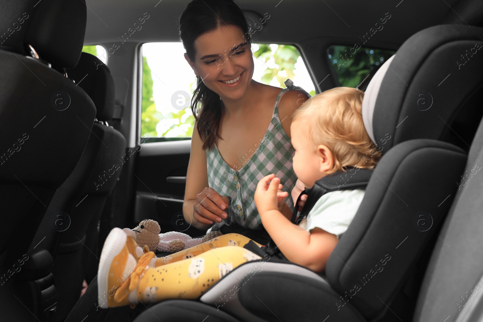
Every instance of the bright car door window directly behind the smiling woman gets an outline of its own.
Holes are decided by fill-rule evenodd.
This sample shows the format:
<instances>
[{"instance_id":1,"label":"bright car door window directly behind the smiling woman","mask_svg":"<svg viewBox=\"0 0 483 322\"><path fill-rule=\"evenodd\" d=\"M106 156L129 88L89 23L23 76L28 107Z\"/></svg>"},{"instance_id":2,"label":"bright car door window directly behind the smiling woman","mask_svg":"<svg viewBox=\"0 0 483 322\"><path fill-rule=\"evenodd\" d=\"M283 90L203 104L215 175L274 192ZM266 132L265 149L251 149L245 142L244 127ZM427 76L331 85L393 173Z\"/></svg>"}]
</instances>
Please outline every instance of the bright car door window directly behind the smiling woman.
<instances>
[{"instance_id":1,"label":"bright car door window directly behind the smiling woman","mask_svg":"<svg viewBox=\"0 0 483 322\"><path fill-rule=\"evenodd\" d=\"M315 86L292 45L253 43L253 79L285 88L290 78L315 95ZM191 139L195 118L191 98L196 76L184 57L181 42L148 42L142 45L141 137L145 142Z\"/></svg>"}]
</instances>

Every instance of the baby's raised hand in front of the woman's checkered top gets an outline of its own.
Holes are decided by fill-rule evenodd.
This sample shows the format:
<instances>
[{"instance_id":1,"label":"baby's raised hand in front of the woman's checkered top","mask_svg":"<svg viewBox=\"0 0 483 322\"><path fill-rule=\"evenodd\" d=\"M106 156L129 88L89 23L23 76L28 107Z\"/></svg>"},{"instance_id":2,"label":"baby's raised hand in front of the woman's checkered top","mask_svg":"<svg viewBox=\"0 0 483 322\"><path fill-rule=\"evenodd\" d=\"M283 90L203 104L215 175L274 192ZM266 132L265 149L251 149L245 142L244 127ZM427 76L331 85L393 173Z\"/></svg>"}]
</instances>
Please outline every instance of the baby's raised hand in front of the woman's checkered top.
<instances>
[{"instance_id":1,"label":"baby's raised hand in front of the woman's checkered top","mask_svg":"<svg viewBox=\"0 0 483 322\"><path fill-rule=\"evenodd\" d=\"M263 177L258 182L254 199L256 209L260 215L269 210L282 212L280 209L283 209L284 198L288 196L288 192L281 191L282 188L283 185L280 184L280 178L276 178L273 173Z\"/></svg>"}]
</instances>

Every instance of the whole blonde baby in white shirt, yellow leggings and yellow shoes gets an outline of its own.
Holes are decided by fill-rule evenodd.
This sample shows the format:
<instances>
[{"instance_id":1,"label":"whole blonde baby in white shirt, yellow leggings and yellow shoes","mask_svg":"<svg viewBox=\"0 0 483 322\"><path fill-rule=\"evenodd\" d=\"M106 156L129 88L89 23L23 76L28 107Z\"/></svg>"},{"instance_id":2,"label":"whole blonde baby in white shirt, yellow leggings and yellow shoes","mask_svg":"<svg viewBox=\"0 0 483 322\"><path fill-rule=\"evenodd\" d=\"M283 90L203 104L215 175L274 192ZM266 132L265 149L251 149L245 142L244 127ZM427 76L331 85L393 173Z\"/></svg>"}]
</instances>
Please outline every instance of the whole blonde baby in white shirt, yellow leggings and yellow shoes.
<instances>
[{"instance_id":1,"label":"whole blonde baby in white shirt, yellow leggings and yellow shoes","mask_svg":"<svg viewBox=\"0 0 483 322\"><path fill-rule=\"evenodd\" d=\"M294 201L303 187L313 187L328 174L345 167L374 168L381 158L364 128L363 96L354 88L333 88L310 98L292 115L291 140L296 150L293 168L298 176L298 185L292 191ZM262 224L288 260L322 272L338 238L352 221L364 190L323 195L299 226L279 210L288 196L282 188L274 174L258 182L255 203ZM135 257L133 248L128 247L133 244L129 238L122 229L114 228L104 243L98 271L100 308L197 299L235 267L265 261L243 247L252 239L234 233L155 261L154 252Z\"/></svg>"}]
</instances>

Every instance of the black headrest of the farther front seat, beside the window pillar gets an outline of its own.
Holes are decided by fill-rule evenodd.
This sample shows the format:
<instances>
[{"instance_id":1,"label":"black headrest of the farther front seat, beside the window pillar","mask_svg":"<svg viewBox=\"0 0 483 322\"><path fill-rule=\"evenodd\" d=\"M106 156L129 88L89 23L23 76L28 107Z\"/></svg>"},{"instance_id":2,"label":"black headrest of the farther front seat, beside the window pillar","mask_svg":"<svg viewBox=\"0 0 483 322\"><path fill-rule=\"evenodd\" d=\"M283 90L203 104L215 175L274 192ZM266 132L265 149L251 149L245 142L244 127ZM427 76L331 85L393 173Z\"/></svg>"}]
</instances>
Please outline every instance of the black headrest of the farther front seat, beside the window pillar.
<instances>
[{"instance_id":1,"label":"black headrest of the farther front seat, beside the window pillar","mask_svg":"<svg viewBox=\"0 0 483 322\"><path fill-rule=\"evenodd\" d=\"M106 64L94 55L82 53L77 66L65 71L96 105L96 118L110 121L114 115L114 80Z\"/></svg>"}]
</instances>

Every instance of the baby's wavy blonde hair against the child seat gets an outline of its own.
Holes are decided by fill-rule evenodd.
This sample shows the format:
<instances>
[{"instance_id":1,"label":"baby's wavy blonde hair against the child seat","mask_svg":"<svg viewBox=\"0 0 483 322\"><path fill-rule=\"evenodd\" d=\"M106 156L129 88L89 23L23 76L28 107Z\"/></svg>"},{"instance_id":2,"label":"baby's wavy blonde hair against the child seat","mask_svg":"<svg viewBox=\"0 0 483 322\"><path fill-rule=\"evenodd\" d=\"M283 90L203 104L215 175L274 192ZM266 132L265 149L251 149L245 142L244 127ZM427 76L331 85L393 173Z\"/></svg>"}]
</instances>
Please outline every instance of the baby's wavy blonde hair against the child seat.
<instances>
[{"instance_id":1,"label":"baby's wavy blonde hair against the child seat","mask_svg":"<svg viewBox=\"0 0 483 322\"><path fill-rule=\"evenodd\" d=\"M314 149L324 144L334 156L334 167L374 168L382 157L370 140L362 121L364 92L352 87L335 87L304 102L292 114L292 122L303 122Z\"/></svg>"}]
</instances>

